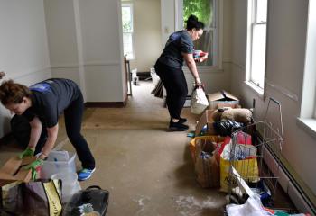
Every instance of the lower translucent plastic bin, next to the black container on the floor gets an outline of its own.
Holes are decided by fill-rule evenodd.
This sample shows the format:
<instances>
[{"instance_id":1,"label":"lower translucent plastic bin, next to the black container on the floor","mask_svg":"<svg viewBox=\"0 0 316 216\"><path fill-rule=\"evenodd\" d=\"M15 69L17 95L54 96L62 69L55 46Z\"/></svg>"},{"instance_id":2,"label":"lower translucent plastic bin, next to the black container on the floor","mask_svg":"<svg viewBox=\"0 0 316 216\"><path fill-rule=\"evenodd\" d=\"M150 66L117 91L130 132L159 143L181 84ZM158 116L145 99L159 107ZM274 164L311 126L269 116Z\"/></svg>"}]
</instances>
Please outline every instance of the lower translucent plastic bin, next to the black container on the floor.
<instances>
[{"instance_id":1,"label":"lower translucent plastic bin, next to the black container on the floor","mask_svg":"<svg viewBox=\"0 0 316 216\"><path fill-rule=\"evenodd\" d=\"M81 190L78 182L78 175L72 172L62 172L51 175L51 179L61 180L61 202L70 201L71 196Z\"/></svg>"}]
</instances>

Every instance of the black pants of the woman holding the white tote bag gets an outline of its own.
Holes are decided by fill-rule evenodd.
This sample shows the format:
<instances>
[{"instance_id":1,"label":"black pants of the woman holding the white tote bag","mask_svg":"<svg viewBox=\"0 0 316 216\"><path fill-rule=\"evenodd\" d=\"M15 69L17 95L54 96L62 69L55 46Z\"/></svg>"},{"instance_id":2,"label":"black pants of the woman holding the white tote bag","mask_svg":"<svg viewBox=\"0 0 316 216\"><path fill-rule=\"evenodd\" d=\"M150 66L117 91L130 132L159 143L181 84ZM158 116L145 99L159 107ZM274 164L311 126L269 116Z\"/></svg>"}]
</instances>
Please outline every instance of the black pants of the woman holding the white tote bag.
<instances>
[{"instance_id":1,"label":"black pants of the woman holding the white tote bag","mask_svg":"<svg viewBox=\"0 0 316 216\"><path fill-rule=\"evenodd\" d=\"M179 119L188 95L188 85L181 68L173 68L157 61L154 66L167 91L166 103L171 118Z\"/></svg>"}]
</instances>

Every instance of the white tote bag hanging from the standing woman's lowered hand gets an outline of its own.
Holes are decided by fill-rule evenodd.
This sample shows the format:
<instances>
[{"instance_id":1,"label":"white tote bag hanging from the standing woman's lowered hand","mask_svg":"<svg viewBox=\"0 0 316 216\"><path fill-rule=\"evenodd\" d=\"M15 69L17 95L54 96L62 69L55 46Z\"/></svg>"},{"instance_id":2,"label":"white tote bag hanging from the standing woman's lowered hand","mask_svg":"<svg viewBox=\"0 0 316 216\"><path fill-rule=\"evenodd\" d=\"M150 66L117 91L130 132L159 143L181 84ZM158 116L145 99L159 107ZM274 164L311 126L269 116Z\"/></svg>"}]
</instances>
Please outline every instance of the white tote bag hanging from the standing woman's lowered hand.
<instances>
[{"instance_id":1,"label":"white tote bag hanging from the standing woman's lowered hand","mask_svg":"<svg viewBox=\"0 0 316 216\"><path fill-rule=\"evenodd\" d=\"M201 114L208 106L209 101L203 88L195 88L191 94L191 113Z\"/></svg>"}]
</instances>

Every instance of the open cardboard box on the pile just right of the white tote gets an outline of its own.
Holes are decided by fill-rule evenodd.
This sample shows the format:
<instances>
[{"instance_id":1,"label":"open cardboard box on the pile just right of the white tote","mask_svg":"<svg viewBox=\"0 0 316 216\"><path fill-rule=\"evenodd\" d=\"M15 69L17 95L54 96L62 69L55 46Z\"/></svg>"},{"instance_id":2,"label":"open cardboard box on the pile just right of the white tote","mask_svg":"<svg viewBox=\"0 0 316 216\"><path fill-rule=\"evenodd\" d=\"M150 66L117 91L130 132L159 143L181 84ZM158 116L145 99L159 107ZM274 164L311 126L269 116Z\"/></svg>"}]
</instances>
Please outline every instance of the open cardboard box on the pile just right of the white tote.
<instances>
[{"instance_id":1,"label":"open cardboard box on the pile just right of the white tote","mask_svg":"<svg viewBox=\"0 0 316 216\"><path fill-rule=\"evenodd\" d=\"M238 108L239 99L233 94L225 91L220 91L213 94L208 94L209 110L214 110L223 107Z\"/></svg>"}]
</instances>

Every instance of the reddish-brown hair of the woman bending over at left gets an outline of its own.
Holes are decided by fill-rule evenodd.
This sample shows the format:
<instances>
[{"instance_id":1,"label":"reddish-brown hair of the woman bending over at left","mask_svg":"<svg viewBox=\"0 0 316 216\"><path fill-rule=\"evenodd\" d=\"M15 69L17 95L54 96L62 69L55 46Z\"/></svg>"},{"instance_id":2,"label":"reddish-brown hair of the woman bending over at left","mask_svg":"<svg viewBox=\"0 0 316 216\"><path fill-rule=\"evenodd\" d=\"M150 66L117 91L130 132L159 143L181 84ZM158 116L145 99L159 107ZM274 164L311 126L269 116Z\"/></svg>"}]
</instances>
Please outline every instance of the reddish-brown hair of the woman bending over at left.
<instances>
[{"instance_id":1,"label":"reddish-brown hair of the woman bending over at left","mask_svg":"<svg viewBox=\"0 0 316 216\"><path fill-rule=\"evenodd\" d=\"M6 105L9 103L22 103L23 97L31 97L30 89L21 84L14 83L13 80L7 80L0 85L0 101Z\"/></svg>"}]
</instances>

